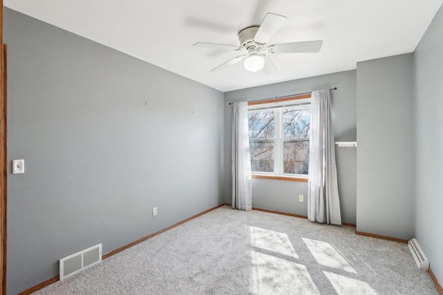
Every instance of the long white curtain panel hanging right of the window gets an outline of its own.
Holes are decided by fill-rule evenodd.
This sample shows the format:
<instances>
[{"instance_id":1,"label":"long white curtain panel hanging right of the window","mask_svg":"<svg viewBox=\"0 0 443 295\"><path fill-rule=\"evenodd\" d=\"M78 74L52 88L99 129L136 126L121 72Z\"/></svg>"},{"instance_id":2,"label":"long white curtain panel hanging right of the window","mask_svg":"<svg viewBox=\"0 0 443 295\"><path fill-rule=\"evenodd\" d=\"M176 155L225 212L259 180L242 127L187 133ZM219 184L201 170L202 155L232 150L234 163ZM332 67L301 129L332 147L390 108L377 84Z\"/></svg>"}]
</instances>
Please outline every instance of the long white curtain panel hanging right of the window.
<instances>
[{"instance_id":1,"label":"long white curtain panel hanging right of the window","mask_svg":"<svg viewBox=\"0 0 443 295\"><path fill-rule=\"evenodd\" d=\"M311 221L341 225L329 90L311 94L307 217Z\"/></svg>"}]
</instances>

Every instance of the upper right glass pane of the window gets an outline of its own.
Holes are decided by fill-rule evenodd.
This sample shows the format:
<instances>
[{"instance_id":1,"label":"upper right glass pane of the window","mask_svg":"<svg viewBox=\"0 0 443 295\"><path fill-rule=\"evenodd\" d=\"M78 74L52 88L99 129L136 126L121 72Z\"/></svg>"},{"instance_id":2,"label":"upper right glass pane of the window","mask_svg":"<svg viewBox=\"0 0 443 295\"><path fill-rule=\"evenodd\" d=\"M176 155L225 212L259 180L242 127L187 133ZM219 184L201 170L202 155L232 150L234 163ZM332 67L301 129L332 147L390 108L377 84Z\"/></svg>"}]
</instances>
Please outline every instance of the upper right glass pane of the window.
<instances>
[{"instance_id":1,"label":"upper right glass pane of the window","mask_svg":"<svg viewBox=\"0 0 443 295\"><path fill-rule=\"evenodd\" d=\"M287 108L283 111L283 137L307 138L311 112L306 107Z\"/></svg>"}]
</instances>

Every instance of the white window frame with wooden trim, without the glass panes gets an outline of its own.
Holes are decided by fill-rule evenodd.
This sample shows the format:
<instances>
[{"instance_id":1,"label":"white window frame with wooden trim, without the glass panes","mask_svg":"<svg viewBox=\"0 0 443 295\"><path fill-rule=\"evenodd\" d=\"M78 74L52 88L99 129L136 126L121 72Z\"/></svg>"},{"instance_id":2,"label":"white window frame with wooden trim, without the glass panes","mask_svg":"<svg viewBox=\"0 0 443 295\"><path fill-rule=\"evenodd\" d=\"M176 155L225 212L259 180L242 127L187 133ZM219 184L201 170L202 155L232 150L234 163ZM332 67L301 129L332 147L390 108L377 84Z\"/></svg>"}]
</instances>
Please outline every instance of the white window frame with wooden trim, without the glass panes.
<instances>
[{"instance_id":1,"label":"white window frame with wooden trim, without the glass panes","mask_svg":"<svg viewBox=\"0 0 443 295\"><path fill-rule=\"evenodd\" d=\"M293 173L284 173L284 141L289 140L289 138L284 137L283 134L283 110L285 108L293 108L296 106L310 106L311 105L311 95L298 95L295 97L284 97L283 99L269 99L258 102L249 102L248 103L248 113L250 111L266 111L273 110L274 111L274 122L275 122L275 138L274 142L274 171L273 172L261 172L261 171L252 171L253 178L264 178L264 179L275 179L275 180L291 180L291 181L301 181L307 182L309 177L308 174L293 174ZM309 122L310 124L310 122ZM260 139L257 138L255 140L271 140L271 139ZM302 137L296 139L290 139L296 141L308 141L309 137Z\"/></svg>"}]
</instances>

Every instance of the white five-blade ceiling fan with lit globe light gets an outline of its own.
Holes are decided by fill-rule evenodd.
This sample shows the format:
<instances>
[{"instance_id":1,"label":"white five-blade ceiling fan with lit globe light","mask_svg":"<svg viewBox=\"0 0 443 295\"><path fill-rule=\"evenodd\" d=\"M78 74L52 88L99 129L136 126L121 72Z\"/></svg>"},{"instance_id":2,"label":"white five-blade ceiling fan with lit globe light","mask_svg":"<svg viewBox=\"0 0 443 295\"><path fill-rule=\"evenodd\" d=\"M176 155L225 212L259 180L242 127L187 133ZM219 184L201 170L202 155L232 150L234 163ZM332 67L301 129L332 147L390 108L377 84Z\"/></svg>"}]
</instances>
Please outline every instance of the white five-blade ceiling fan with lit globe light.
<instances>
[{"instance_id":1,"label":"white five-blade ceiling fan with lit globe light","mask_svg":"<svg viewBox=\"0 0 443 295\"><path fill-rule=\"evenodd\" d=\"M197 42L194 46L246 52L245 55L234 57L224 64L217 66L217 68L213 68L210 70L211 72L217 72L228 66L237 64L239 61L244 61L244 68L246 68L246 70L257 72L263 69L264 73L271 74L274 73L277 68L271 59L269 59L268 55L276 53L318 53L323 44L323 41L267 44L285 20L286 17L282 15L275 15L273 13L266 14L260 26L244 28L238 33L240 46L201 42Z\"/></svg>"}]
</instances>

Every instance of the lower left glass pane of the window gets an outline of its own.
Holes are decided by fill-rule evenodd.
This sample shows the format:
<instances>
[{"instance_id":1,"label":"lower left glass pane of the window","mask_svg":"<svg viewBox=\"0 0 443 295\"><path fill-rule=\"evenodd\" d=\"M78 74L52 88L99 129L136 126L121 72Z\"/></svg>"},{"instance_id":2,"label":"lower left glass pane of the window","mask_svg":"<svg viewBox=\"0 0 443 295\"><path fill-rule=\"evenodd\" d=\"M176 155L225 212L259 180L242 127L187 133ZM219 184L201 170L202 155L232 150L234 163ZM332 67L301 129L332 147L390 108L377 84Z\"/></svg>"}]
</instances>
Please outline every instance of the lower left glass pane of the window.
<instances>
[{"instance_id":1,"label":"lower left glass pane of the window","mask_svg":"<svg viewBox=\"0 0 443 295\"><path fill-rule=\"evenodd\" d=\"M274 141L251 140L251 170L260 172L274 171Z\"/></svg>"}]
</instances>

